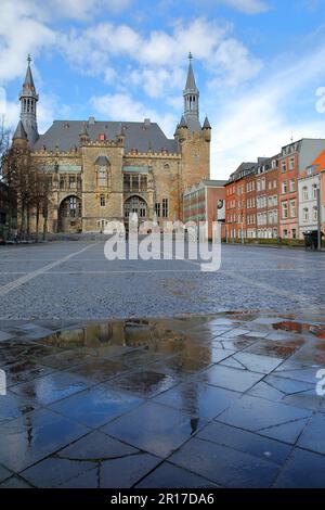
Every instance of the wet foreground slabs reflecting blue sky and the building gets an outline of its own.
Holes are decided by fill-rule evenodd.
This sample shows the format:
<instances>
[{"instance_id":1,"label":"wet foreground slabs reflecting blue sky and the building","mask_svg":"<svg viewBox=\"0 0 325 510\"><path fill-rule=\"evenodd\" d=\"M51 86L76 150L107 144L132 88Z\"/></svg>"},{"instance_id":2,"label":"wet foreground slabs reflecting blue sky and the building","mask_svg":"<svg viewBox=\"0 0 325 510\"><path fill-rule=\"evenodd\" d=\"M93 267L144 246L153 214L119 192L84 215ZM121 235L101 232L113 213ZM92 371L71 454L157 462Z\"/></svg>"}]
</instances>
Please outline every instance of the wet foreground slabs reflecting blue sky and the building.
<instances>
[{"instance_id":1,"label":"wet foreground slabs reflecting blue sky and the building","mask_svg":"<svg viewBox=\"0 0 325 510\"><path fill-rule=\"evenodd\" d=\"M8 320L0 339L0 488L325 486L317 313Z\"/></svg>"}]
</instances>

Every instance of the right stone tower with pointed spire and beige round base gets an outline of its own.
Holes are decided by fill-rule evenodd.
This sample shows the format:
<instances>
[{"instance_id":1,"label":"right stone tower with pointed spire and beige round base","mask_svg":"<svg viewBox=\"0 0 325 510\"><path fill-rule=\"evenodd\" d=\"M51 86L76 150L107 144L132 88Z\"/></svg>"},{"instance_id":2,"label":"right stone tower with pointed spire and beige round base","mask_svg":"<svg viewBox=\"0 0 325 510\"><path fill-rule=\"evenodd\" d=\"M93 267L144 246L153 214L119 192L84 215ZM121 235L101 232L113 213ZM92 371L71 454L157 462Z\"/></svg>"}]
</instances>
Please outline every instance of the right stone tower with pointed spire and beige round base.
<instances>
[{"instance_id":1,"label":"right stone tower with pointed spire and beige round base","mask_svg":"<svg viewBox=\"0 0 325 510\"><path fill-rule=\"evenodd\" d=\"M182 192L200 180L210 178L211 126L208 117L205 118L204 125L200 125L199 91L195 82L191 53L188 60L187 79L183 92L184 112L174 133L182 155Z\"/></svg>"}]
</instances>

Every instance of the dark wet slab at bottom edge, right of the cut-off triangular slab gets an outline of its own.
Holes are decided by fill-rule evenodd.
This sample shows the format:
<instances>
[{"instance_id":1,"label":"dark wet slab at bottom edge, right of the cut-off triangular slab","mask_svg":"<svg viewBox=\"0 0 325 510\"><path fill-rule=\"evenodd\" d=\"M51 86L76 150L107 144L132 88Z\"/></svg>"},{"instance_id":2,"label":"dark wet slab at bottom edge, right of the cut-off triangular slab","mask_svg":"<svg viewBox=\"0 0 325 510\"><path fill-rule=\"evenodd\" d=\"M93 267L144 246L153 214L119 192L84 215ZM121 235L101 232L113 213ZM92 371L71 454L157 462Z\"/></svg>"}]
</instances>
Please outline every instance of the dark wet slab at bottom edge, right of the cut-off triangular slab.
<instances>
[{"instance_id":1,"label":"dark wet slab at bottom edge, right of the cut-off triangular slab","mask_svg":"<svg viewBox=\"0 0 325 510\"><path fill-rule=\"evenodd\" d=\"M242 451L197 437L183 445L169 461L225 487L269 487L278 467Z\"/></svg>"}]
</instances>

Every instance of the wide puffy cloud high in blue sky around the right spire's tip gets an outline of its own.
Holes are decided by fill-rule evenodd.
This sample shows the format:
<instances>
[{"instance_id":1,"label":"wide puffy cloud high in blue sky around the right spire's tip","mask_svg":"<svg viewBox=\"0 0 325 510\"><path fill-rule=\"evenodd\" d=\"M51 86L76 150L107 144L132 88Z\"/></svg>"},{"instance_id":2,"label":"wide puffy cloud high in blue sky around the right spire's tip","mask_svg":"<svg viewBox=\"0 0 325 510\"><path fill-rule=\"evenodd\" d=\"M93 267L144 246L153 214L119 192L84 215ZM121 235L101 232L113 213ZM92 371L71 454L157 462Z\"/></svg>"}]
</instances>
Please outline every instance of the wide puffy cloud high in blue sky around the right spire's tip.
<instances>
[{"instance_id":1,"label":"wide puffy cloud high in blue sky around the right spire's tip","mask_svg":"<svg viewBox=\"0 0 325 510\"><path fill-rule=\"evenodd\" d=\"M130 64L120 71L120 82L130 80L150 98L168 95L170 90L183 87L190 50L212 75L211 80L222 75L232 86L242 85L262 67L234 37L231 24L220 25L204 17L178 22L170 30L147 35L108 22L84 30L74 28L61 36L58 48L72 66L92 76L103 76L126 59ZM107 81L109 78L110 73Z\"/></svg>"}]
</instances>

